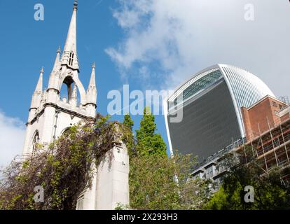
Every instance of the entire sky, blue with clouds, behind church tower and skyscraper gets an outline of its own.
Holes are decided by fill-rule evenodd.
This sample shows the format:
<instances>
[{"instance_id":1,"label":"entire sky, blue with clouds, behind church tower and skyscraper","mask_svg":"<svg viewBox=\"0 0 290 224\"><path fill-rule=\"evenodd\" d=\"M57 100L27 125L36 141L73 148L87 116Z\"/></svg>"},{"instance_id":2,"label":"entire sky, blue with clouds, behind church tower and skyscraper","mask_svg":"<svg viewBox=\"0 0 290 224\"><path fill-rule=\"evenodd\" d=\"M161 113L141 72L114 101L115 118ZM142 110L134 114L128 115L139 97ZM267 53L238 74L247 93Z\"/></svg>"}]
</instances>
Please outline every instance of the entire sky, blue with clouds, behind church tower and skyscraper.
<instances>
[{"instance_id":1,"label":"entire sky, blue with clouds, behind church tower and skyscraper","mask_svg":"<svg viewBox=\"0 0 290 224\"><path fill-rule=\"evenodd\" d=\"M36 3L44 6L44 21L34 20ZM247 3L254 7L253 21L244 19ZM73 0L0 0L0 160L22 151L39 71L44 66L46 86L72 5ZM288 0L79 0L77 23L80 78L87 87L95 62L102 114L110 90L124 84L130 90L172 89L217 63L248 69L277 97L290 94ZM136 127L140 118L134 116ZM167 141L163 116L156 122ZM6 139L14 145L5 145Z\"/></svg>"}]
</instances>

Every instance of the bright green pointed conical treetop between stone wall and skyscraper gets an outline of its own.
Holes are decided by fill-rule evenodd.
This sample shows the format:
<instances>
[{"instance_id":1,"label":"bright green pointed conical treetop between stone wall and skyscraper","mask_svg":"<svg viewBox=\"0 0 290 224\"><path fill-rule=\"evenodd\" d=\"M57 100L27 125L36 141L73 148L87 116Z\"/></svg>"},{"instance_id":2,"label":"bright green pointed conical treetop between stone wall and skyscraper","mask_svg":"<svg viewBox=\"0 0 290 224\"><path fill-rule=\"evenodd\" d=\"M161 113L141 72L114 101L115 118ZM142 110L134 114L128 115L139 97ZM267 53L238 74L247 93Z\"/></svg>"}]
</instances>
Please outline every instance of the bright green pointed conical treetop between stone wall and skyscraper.
<instances>
[{"instance_id":1,"label":"bright green pointed conical treetop between stone wall and skyscraper","mask_svg":"<svg viewBox=\"0 0 290 224\"><path fill-rule=\"evenodd\" d=\"M156 134L155 117L149 107L144 109L137 133L136 151L138 155L166 155L167 146L160 134Z\"/></svg>"}]
</instances>

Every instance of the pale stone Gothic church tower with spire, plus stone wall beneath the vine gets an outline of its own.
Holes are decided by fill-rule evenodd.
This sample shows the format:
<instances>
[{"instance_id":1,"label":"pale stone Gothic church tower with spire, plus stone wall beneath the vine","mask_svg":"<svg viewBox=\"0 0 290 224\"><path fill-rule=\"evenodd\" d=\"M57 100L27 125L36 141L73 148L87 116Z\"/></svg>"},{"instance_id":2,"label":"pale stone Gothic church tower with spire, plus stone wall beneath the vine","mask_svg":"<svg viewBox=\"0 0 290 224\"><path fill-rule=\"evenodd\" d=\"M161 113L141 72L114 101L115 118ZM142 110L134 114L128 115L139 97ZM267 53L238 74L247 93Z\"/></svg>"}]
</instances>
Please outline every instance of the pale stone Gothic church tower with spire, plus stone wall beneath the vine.
<instances>
[{"instance_id":1,"label":"pale stone Gothic church tower with spire, plus stone wall beneath the vine","mask_svg":"<svg viewBox=\"0 0 290 224\"><path fill-rule=\"evenodd\" d=\"M76 13L77 1L69 25L67 41L62 57L60 48L53 71L50 73L48 88L43 90L43 69L41 69L36 90L29 109L27 131L23 155L32 156L36 144L48 146L72 125L84 118L95 118L97 108L97 87L95 85L95 64L88 89L85 91L78 78L79 65L76 52ZM62 85L67 85L67 98L61 98ZM78 93L80 97L78 97ZM78 100L79 98L79 100ZM114 209L116 204L129 204L129 159L123 143L116 144L114 159L109 168L105 163L98 167L92 181L92 188L86 189L78 199L76 209Z\"/></svg>"}]
</instances>

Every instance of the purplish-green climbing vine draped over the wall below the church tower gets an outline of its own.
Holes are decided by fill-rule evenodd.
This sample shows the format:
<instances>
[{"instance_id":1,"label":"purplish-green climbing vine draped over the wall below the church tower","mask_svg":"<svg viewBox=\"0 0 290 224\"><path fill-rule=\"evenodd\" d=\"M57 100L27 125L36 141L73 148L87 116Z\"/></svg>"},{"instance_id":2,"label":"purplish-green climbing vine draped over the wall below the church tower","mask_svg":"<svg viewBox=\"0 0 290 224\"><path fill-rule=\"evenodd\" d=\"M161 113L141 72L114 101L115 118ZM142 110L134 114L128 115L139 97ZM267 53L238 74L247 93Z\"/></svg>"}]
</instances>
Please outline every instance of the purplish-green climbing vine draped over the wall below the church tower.
<instances>
[{"instance_id":1,"label":"purplish-green climbing vine draped over the wall below the church tower","mask_svg":"<svg viewBox=\"0 0 290 224\"><path fill-rule=\"evenodd\" d=\"M0 209L76 209L78 196L121 133L109 117L97 116L76 125L28 160L12 162L0 184ZM96 166L94 166L96 165ZM43 186L45 202L34 202L34 188Z\"/></svg>"}]
</instances>

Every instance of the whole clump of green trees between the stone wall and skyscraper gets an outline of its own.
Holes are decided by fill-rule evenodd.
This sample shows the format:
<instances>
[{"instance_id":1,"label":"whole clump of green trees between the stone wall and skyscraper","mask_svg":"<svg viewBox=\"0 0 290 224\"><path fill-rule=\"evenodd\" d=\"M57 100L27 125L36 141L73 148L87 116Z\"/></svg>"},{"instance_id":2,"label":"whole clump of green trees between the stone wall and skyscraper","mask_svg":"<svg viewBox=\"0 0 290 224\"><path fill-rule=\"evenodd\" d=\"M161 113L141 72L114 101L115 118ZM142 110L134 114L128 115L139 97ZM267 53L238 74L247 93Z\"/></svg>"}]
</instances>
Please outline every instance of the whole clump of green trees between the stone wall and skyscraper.
<instances>
[{"instance_id":1,"label":"whole clump of green trees between the stone wall and skyscraper","mask_svg":"<svg viewBox=\"0 0 290 224\"><path fill-rule=\"evenodd\" d=\"M132 130L130 116L125 117L124 125ZM156 131L155 118L146 108L130 154L130 207L200 209L210 195L210 181L189 179L196 159L177 152L168 158L167 146Z\"/></svg>"}]
</instances>

